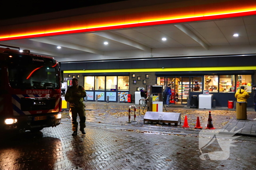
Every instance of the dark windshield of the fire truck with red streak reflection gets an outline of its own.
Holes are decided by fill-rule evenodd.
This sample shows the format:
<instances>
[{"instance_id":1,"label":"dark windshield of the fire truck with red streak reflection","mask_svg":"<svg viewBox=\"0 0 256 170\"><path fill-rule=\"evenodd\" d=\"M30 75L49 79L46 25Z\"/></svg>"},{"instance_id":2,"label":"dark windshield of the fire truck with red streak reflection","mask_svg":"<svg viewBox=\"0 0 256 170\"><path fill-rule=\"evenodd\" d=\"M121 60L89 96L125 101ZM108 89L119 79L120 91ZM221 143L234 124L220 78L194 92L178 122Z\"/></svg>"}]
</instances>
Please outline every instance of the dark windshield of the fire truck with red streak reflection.
<instances>
[{"instance_id":1,"label":"dark windshield of the fire truck with red streak reflection","mask_svg":"<svg viewBox=\"0 0 256 170\"><path fill-rule=\"evenodd\" d=\"M44 60L42 60L44 61ZM56 63L10 63L8 78L12 88L16 89L59 89L60 79Z\"/></svg>"}]
</instances>

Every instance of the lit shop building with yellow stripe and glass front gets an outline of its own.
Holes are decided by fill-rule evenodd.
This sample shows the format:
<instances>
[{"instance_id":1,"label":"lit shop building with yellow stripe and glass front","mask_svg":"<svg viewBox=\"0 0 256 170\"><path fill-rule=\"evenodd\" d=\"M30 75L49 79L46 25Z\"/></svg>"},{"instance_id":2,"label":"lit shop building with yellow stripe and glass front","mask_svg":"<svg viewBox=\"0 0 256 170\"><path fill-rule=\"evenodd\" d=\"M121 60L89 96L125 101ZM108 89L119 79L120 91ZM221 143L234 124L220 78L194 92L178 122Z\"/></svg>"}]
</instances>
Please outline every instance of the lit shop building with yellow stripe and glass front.
<instances>
[{"instance_id":1,"label":"lit shop building with yellow stripe and glass front","mask_svg":"<svg viewBox=\"0 0 256 170\"><path fill-rule=\"evenodd\" d=\"M88 100L91 101L95 101L95 96L99 96L98 101L106 101L106 96L111 93L114 97L110 101L117 102L117 95L120 95L121 102L124 102L124 99L127 101L125 96L134 95L138 87L146 89L148 85L157 84L165 88L167 84L172 84L175 95L171 104L187 104L192 95L198 96L203 90L209 90L217 107L227 107L228 100L236 100L236 90L245 86L250 95L248 107L252 107L251 87L256 84L256 66L251 65L252 62L241 63L240 59L253 61L255 57L229 55L69 62L61 63L61 70L64 78L79 75L80 85L90 94Z\"/></svg>"}]
</instances>

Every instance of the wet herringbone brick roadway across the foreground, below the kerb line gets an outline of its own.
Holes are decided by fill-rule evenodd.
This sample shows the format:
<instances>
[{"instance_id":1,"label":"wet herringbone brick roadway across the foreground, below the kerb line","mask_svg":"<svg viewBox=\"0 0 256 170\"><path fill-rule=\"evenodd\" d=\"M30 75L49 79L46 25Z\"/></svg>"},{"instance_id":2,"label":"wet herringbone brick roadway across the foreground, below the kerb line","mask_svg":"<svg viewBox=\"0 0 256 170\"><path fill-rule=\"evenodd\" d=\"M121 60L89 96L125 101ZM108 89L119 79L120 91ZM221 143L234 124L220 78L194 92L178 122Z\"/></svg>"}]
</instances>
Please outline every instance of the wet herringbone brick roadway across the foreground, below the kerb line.
<instances>
[{"instance_id":1,"label":"wet herringbone brick roadway across the foreground, below the kerb line","mask_svg":"<svg viewBox=\"0 0 256 170\"><path fill-rule=\"evenodd\" d=\"M87 126L86 135L79 131L72 137L71 133L71 124L63 123L39 133L7 134L6 140L0 141L0 170L256 169L256 142L236 141L237 147L230 147L229 159L204 161L199 158L196 137L97 126ZM213 145L208 150L215 149Z\"/></svg>"}]
</instances>

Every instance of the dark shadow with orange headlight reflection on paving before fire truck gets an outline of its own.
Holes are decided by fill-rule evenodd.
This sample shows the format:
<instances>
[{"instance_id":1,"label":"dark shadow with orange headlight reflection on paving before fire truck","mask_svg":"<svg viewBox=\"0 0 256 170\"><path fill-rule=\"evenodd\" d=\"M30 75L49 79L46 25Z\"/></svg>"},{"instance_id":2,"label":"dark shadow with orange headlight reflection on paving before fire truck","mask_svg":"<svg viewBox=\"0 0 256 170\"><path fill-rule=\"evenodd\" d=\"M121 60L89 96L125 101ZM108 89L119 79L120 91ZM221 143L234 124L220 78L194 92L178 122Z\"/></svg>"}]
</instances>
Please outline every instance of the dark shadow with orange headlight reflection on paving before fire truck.
<instances>
[{"instance_id":1,"label":"dark shadow with orange headlight reflection on paving before fire truck","mask_svg":"<svg viewBox=\"0 0 256 170\"><path fill-rule=\"evenodd\" d=\"M14 170L53 170L61 147L58 138L43 137L42 132L4 134L0 141L0 160Z\"/></svg>"}]
</instances>

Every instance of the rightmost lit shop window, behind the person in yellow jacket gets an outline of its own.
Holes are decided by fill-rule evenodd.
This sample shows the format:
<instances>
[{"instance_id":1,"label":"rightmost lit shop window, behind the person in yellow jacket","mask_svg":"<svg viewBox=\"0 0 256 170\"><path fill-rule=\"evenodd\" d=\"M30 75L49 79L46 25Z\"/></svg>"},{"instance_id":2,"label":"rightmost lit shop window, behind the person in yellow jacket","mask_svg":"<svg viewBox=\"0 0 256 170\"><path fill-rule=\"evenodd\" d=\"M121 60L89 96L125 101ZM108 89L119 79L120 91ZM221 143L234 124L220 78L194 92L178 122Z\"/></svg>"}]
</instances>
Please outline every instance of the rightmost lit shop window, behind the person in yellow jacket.
<instances>
[{"instance_id":1,"label":"rightmost lit shop window, behind the person in yellow jacket","mask_svg":"<svg viewBox=\"0 0 256 170\"><path fill-rule=\"evenodd\" d=\"M236 80L236 89L244 86L245 91L252 92L252 75L236 75Z\"/></svg>"}]
</instances>

